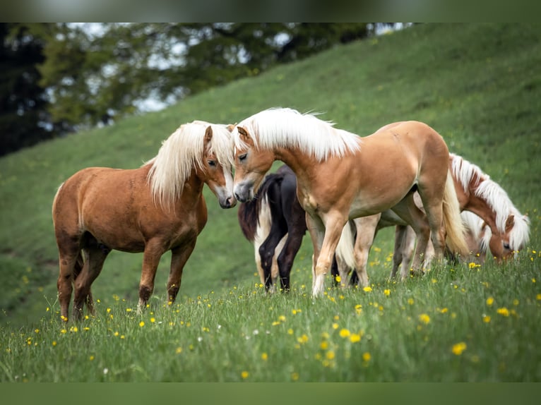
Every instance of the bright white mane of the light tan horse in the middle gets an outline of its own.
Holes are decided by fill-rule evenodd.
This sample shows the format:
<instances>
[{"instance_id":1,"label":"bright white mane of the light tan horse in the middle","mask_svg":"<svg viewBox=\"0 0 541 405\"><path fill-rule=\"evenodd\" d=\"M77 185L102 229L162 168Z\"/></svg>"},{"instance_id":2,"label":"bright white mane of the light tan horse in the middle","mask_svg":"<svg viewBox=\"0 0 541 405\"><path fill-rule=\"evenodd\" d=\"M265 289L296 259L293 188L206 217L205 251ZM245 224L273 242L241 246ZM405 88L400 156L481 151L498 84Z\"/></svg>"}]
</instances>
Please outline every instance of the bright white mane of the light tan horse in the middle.
<instances>
[{"instance_id":1,"label":"bright white mane of the light tan horse in the middle","mask_svg":"<svg viewBox=\"0 0 541 405\"><path fill-rule=\"evenodd\" d=\"M244 149L247 145L239 138L239 126L248 131L256 147L298 147L319 162L360 149L359 136L333 128L334 123L322 121L316 114L301 114L295 109L266 109L238 123L232 131L234 146Z\"/></svg>"}]
</instances>

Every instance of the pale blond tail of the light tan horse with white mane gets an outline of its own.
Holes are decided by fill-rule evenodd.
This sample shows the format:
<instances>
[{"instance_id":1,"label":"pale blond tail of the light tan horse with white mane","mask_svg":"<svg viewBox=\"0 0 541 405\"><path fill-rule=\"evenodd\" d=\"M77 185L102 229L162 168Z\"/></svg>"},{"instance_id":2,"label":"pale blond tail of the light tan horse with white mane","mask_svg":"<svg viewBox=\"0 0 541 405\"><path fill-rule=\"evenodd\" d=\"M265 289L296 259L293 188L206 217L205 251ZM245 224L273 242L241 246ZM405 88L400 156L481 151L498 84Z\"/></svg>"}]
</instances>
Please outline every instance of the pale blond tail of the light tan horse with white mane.
<instances>
[{"instance_id":1,"label":"pale blond tail of the light tan horse with white mane","mask_svg":"<svg viewBox=\"0 0 541 405\"><path fill-rule=\"evenodd\" d=\"M468 243L466 243L465 239L465 228L462 217L460 217L460 205L458 205L458 198L456 196L451 170L447 171L443 211L448 248L451 249L453 253L467 256L469 253Z\"/></svg>"}]
</instances>

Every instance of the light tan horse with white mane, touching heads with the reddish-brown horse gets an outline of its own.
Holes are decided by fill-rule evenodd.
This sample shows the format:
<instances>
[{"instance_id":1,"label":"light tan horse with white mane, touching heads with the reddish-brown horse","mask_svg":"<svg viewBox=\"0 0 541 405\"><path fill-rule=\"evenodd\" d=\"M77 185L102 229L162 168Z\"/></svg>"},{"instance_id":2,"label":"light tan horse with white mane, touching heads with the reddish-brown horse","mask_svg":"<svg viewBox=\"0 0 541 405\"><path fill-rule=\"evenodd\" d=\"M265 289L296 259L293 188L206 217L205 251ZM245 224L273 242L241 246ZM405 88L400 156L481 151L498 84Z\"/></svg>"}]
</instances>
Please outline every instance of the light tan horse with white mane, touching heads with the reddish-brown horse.
<instances>
[{"instance_id":1,"label":"light tan horse with white mane, touching heads with the reddish-brown horse","mask_svg":"<svg viewBox=\"0 0 541 405\"><path fill-rule=\"evenodd\" d=\"M454 250L467 252L448 173L448 148L424 123L408 121L359 138L312 114L268 109L237 124L232 135L237 200L254 198L275 160L297 175L297 197L307 212L314 246L313 296L323 294L325 274L348 219L392 209L417 235L416 270L429 237L437 258L443 255L446 234ZM414 191L420 193L426 214L413 202ZM355 259L357 270L357 254ZM367 285L366 273L357 275Z\"/></svg>"}]
</instances>

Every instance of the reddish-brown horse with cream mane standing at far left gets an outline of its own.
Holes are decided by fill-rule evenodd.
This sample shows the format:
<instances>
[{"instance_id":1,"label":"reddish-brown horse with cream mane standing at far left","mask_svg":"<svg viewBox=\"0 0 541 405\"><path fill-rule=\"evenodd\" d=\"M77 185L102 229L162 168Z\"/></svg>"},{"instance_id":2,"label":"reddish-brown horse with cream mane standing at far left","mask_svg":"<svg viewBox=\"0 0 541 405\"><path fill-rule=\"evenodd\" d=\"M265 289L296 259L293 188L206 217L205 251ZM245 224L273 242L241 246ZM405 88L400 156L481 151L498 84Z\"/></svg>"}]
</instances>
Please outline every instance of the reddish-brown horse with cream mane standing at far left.
<instances>
[{"instance_id":1,"label":"reddish-brown horse with cream mane standing at far left","mask_svg":"<svg viewBox=\"0 0 541 405\"><path fill-rule=\"evenodd\" d=\"M167 294L174 301L184 265L207 221L204 184L222 208L237 203L232 189L231 142L225 126L194 121L180 126L158 154L138 169L90 167L61 184L52 216L63 320L68 320L72 284L73 316L81 318L85 302L93 313L90 286L113 249L144 252L140 310L153 292L160 257L171 250Z\"/></svg>"}]
</instances>

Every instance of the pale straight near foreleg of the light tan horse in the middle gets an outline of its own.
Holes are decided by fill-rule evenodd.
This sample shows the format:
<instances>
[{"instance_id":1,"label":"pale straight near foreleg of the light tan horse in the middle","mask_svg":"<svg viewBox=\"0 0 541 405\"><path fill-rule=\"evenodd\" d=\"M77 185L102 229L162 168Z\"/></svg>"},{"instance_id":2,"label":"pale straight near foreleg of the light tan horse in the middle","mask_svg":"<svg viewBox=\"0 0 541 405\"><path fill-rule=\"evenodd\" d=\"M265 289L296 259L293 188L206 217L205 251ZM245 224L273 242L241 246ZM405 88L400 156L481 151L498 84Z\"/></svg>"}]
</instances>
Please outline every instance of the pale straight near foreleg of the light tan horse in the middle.
<instances>
[{"instance_id":1,"label":"pale straight near foreleg of the light tan horse in the middle","mask_svg":"<svg viewBox=\"0 0 541 405\"><path fill-rule=\"evenodd\" d=\"M338 241L340 241L347 217L340 212L330 212L324 220L325 234L319 257L316 260L316 268L314 270L316 279L313 282L312 296L321 296L323 294L325 275L331 268L336 246L338 246Z\"/></svg>"}]
</instances>

